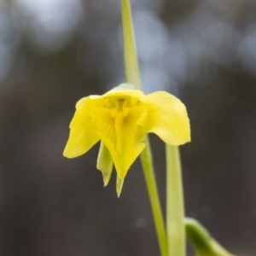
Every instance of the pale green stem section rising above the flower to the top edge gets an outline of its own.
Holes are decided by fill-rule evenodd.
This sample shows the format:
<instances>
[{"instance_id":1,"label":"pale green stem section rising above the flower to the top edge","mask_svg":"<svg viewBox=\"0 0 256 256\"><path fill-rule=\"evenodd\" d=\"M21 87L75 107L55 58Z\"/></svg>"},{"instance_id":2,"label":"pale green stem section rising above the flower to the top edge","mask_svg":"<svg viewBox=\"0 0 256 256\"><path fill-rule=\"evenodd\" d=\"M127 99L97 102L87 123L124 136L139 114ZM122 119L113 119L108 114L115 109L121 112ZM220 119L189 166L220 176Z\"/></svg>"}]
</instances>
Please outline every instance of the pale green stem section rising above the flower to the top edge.
<instances>
[{"instance_id":1,"label":"pale green stem section rising above the flower to the top edge","mask_svg":"<svg viewBox=\"0 0 256 256\"><path fill-rule=\"evenodd\" d=\"M142 90L129 0L122 0L122 21L126 81L135 85L137 90Z\"/></svg>"}]
</instances>

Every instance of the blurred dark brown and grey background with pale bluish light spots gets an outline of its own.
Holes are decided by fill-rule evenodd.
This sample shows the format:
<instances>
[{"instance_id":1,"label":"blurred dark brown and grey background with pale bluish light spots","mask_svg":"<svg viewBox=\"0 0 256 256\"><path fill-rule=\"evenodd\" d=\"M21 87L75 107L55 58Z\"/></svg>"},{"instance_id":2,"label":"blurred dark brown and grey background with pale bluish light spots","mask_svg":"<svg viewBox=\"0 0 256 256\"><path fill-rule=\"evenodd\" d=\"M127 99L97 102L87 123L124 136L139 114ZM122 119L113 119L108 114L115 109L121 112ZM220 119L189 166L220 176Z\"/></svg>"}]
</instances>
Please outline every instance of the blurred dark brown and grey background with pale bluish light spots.
<instances>
[{"instance_id":1,"label":"blurred dark brown and grey background with pale bluish light spots","mask_svg":"<svg viewBox=\"0 0 256 256\"><path fill-rule=\"evenodd\" d=\"M186 215L255 255L256 1L131 5L143 90L188 108ZM62 156L75 103L125 81L120 18L119 0L0 0L1 256L160 255L140 163L118 199L99 145ZM164 204L164 144L151 139Z\"/></svg>"}]
</instances>

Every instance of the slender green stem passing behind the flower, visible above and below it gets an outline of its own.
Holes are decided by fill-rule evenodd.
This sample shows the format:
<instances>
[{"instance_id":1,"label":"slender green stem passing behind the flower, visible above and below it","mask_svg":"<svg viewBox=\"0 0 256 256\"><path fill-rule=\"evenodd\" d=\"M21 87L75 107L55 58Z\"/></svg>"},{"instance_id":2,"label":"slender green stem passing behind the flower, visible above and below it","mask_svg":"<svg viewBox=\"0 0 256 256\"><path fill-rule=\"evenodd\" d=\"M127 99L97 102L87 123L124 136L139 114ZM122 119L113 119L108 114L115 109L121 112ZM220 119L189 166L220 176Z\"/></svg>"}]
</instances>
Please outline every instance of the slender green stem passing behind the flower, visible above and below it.
<instances>
[{"instance_id":1,"label":"slender green stem passing behind the flower, visible above and below it","mask_svg":"<svg viewBox=\"0 0 256 256\"><path fill-rule=\"evenodd\" d=\"M121 3L126 81L127 83L135 85L135 88L137 90L142 90L139 67L137 62L137 50L132 26L130 1L121 0ZM149 201L153 212L156 234L160 245L160 253L162 256L167 256L168 247L166 241L166 230L163 214L160 207L160 199L158 195L157 185L154 177L154 166L148 137L146 137L145 139L145 144L146 147L141 154L141 162L143 166L145 180L147 183Z\"/></svg>"}]
</instances>

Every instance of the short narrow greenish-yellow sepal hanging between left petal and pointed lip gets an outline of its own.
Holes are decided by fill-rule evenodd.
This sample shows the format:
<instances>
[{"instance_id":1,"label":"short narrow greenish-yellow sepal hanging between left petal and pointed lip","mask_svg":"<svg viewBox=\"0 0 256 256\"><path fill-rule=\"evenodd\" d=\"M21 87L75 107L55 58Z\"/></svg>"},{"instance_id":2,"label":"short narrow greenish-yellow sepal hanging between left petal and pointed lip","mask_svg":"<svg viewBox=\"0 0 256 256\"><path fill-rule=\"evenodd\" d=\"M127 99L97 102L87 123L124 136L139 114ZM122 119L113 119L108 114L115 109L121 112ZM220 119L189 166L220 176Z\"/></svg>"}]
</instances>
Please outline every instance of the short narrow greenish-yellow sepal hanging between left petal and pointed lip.
<instances>
[{"instance_id":1,"label":"short narrow greenish-yellow sepal hanging between left petal and pointed lip","mask_svg":"<svg viewBox=\"0 0 256 256\"><path fill-rule=\"evenodd\" d=\"M113 170L113 160L108 148L104 145L104 143L101 143L96 167L102 172L104 187L106 187Z\"/></svg>"}]
</instances>

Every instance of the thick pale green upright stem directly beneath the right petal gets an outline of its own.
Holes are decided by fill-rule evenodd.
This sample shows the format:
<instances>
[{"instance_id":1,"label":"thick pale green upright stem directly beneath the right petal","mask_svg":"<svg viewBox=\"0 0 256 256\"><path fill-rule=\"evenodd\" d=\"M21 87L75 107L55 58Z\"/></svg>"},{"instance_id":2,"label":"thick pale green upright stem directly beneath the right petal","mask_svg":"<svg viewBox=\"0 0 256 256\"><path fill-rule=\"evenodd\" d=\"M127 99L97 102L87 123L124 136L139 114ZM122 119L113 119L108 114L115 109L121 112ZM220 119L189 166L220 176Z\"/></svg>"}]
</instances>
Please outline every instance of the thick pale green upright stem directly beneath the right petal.
<instances>
[{"instance_id":1,"label":"thick pale green upright stem directly beneath the right petal","mask_svg":"<svg viewBox=\"0 0 256 256\"><path fill-rule=\"evenodd\" d=\"M185 256L183 183L179 150L166 144L166 234L169 256Z\"/></svg>"}]
</instances>

